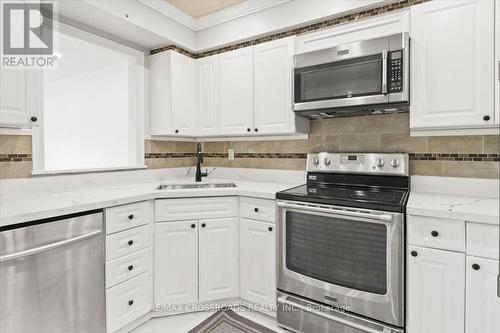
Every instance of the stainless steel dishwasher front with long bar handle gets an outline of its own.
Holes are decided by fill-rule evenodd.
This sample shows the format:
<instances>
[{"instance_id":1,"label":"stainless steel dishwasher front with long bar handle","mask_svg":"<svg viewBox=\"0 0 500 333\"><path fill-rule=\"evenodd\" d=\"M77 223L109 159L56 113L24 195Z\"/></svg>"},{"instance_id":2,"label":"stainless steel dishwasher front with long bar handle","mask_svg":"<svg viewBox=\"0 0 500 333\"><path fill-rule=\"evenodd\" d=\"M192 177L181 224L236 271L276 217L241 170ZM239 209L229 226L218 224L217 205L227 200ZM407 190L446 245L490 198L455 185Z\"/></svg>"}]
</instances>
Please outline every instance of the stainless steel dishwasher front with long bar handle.
<instances>
[{"instance_id":1,"label":"stainless steel dishwasher front with long bar handle","mask_svg":"<svg viewBox=\"0 0 500 333\"><path fill-rule=\"evenodd\" d=\"M0 229L0 332L105 332L102 213Z\"/></svg>"}]
</instances>

